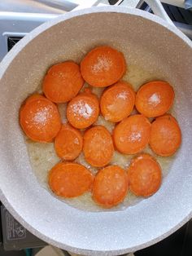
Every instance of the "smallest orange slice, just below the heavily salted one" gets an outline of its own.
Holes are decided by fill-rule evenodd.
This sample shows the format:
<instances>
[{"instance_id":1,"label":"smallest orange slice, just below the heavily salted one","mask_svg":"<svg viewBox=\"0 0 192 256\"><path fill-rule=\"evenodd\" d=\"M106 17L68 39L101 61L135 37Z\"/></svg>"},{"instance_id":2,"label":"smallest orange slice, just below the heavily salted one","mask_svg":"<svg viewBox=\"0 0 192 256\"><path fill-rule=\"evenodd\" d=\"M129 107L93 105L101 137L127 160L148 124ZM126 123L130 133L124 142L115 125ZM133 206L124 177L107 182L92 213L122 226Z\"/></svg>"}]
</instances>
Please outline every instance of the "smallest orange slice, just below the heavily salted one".
<instances>
[{"instance_id":1,"label":"smallest orange slice, just below the heavily salted one","mask_svg":"<svg viewBox=\"0 0 192 256\"><path fill-rule=\"evenodd\" d=\"M83 147L81 132L68 124L64 124L55 137L55 151L63 160L74 160Z\"/></svg>"}]
</instances>

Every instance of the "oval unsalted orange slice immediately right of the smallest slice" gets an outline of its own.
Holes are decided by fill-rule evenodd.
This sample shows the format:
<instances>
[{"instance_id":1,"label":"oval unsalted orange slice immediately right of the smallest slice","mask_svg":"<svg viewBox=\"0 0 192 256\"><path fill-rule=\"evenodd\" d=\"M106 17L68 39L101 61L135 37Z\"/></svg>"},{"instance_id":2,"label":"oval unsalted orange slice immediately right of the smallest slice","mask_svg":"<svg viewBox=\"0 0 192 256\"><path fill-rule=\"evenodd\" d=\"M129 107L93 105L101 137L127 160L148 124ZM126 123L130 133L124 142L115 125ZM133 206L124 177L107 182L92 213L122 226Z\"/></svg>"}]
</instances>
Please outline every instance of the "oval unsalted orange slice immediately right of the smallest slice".
<instances>
[{"instance_id":1,"label":"oval unsalted orange slice immediately right of the smallest slice","mask_svg":"<svg viewBox=\"0 0 192 256\"><path fill-rule=\"evenodd\" d=\"M106 166L113 156L114 147L109 131L104 126L94 126L85 131L83 152L92 166Z\"/></svg>"}]
</instances>

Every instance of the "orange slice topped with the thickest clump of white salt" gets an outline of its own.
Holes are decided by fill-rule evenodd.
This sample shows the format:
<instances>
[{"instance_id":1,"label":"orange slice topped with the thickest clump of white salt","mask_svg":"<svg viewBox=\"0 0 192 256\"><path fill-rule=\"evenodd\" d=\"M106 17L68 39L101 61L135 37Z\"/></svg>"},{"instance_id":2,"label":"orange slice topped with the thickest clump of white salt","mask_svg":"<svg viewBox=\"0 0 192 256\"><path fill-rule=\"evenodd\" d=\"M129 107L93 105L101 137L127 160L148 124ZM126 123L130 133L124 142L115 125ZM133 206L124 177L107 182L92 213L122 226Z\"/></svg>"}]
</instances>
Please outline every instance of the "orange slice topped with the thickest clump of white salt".
<instances>
[{"instance_id":1,"label":"orange slice topped with the thickest clump of white salt","mask_svg":"<svg viewBox=\"0 0 192 256\"><path fill-rule=\"evenodd\" d=\"M68 103L68 121L78 129L91 126L97 120L98 114L98 98L91 92L83 92Z\"/></svg>"}]
</instances>

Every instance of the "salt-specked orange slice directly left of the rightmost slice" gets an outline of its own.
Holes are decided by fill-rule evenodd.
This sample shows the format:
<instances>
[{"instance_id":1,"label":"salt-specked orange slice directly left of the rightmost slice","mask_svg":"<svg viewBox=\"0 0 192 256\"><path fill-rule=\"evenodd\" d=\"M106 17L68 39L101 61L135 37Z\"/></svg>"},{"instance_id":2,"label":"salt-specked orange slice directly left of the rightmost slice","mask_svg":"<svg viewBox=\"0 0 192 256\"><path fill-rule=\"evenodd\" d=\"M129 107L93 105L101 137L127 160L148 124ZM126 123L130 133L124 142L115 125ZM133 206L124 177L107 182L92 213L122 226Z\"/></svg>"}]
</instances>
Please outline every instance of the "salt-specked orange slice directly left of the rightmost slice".
<instances>
[{"instance_id":1,"label":"salt-specked orange slice directly left of the rightmost slice","mask_svg":"<svg viewBox=\"0 0 192 256\"><path fill-rule=\"evenodd\" d=\"M135 154L149 143L151 123L143 115L133 115L121 121L113 131L116 148L124 154Z\"/></svg>"}]
</instances>

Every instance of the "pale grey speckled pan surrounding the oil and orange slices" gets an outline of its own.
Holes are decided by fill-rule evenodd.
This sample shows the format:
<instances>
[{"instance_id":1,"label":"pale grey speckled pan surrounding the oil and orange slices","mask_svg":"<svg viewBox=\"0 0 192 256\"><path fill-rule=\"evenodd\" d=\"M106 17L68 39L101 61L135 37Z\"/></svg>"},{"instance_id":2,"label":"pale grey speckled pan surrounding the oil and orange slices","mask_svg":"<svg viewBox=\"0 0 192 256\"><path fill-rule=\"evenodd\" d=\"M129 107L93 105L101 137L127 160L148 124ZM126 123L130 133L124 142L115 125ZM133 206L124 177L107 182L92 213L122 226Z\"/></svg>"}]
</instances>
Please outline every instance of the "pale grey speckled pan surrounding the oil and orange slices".
<instances>
[{"instance_id":1,"label":"pale grey speckled pan surrounding the oil and orange slices","mask_svg":"<svg viewBox=\"0 0 192 256\"><path fill-rule=\"evenodd\" d=\"M117 255L142 249L175 232L192 210L192 43L164 14L126 7L91 7L59 16L29 33L0 66L0 199L34 235L86 255ZM22 101L36 90L51 65L80 62L98 45L124 52L172 84L182 144L154 196L124 210L78 210L51 196L37 182L18 122Z\"/></svg>"}]
</instances>

